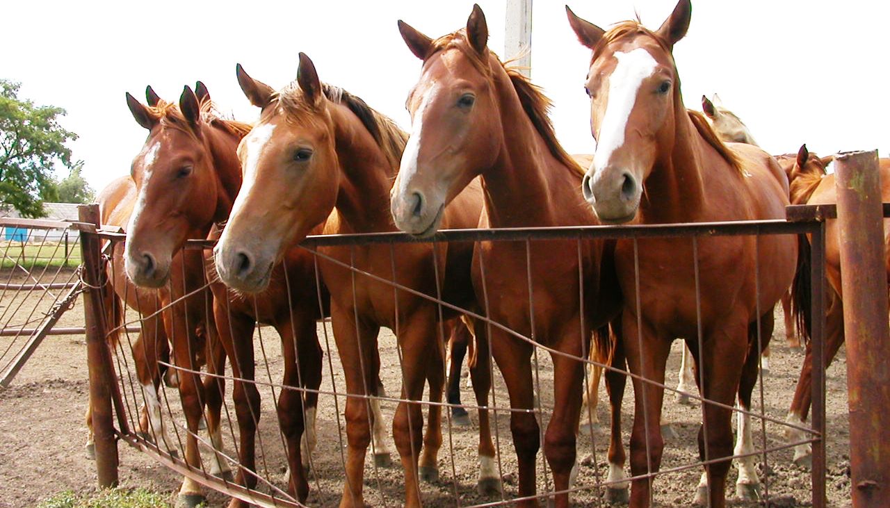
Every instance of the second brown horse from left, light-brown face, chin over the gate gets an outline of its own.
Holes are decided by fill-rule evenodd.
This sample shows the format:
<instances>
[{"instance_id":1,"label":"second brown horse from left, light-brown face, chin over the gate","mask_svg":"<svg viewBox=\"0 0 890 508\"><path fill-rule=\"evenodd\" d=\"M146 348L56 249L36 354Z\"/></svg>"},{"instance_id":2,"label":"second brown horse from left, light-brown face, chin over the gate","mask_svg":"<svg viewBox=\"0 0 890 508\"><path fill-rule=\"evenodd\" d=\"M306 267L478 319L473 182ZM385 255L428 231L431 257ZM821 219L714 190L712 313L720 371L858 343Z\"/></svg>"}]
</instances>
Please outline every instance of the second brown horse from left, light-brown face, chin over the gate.
<instances>
[{"instance_id":1,"label":"second brown horse from left, light-brown face, chin over the gate","mask_svg":"<svg viewBox=\"0 0 890 508\"><path fill-rule=\"evenodd\" d=\"M320 225L325 234L394 230L388 214L389 192L406 136L392 120L352 93L323 85L312 60L303 53L295 82L279 92L247 75L240 65L237 75L247 99L262 114L239 148L245 185L216 246L216 267L227 285L240 291L261 289L271 263ZM458 197L455 206L441 211L441 221L450 228L473 227L480 209L477 184ZM419 506L418 475L425 480L438 477L438 403L444 374L439 337L445 335L440 316L450 319L456 314L429 298L356 276L344 267L353 266L433 297L441 291L444 301L473 308L469 281L473 245L411 243L397 250L380 244L328 246L318 253L321 276L331 294L331 321L348 393L348 456L340 505L364 503L369 427L378 422L377 416L369 418L368 398L373 405L374 396L380 395L374 390L380 367L376 340L380 327L389 327L400 346L402 369L402 400L392 421L393 439L405 472L405 505ZM488 412L483 409L490 389L488 351L478 326L475 335L478 361L471 366L471 375L482 407L480 482L481 487L499 488ZM428 428L421 438L421 407L405 399L421 399L425 381L436 404L429 407Z\"/></svg>"}]
</instances>

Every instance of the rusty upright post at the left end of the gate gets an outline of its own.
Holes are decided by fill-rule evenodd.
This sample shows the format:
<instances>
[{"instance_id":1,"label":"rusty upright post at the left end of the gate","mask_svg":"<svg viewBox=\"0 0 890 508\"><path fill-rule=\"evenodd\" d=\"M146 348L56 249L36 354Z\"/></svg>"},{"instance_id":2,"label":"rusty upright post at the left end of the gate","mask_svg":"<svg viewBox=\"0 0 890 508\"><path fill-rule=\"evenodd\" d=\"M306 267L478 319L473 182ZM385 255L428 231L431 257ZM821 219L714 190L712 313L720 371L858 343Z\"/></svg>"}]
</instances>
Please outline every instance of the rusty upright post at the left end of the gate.
<instances>
[{"instance_id":1,"label":"rusty upright post at the left end of the gate","mask_svg":"<svg viewBox=\"0 0 890 508\"><path fill-rule=\"evenodd\" d=\"M80 222L99 226L99 206L77 207ZM93 433L96 447L96 473L100 488L117 485L117 438L111 414L111 351L105 341L102 315L101 246L98 235L84 232L81 236L83 278L86 286L84 318L86 327L86 359L90 375L90 407L93 409Z\"/></svg>"}]
</instances>

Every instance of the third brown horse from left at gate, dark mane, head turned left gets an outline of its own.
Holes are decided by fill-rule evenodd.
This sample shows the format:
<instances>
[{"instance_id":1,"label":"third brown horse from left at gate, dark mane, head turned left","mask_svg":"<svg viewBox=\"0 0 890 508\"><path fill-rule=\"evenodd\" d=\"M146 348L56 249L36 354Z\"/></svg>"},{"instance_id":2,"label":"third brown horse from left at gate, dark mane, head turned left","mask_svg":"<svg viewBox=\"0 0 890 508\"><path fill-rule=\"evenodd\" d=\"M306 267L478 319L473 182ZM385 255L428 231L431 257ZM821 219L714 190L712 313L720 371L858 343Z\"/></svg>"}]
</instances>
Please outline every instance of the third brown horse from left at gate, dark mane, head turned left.
<instances>
[{"instance_id":1,"label":"third brown horse from left at gate, dark mane, head turned left","mask_svg":"<svg viewBox=\"0 0 890 508\"><path fill-rule=\"evenodd\" d=\"M488 26L478 5L465 29L434 41L401 21L399 28L411 52L424 61L409 94L413 129L392 189L392 217L401 230L423 237L448 227L441 223L441 210L455 206L456 196L480 176L485 189L481 228L596 223L578 196L582 170L560 147L547 118L549 101L490 52ZM576 471L584 376L580 360L587 356L593 331L619 309L617 288L610 292L602 287L604 250L602 241L587 240L580 245L575 240L482 242L473 256L473 286L481 302L489 296L488 317L561 353L552 355L554 414L544 446L558 506L568 504L565 491ZM581 290L584 302L578 301ZM530 411L534 346L492 328L490 347L510 406L524 410L510 415L519 495L524 498L519 503L537 504L540 434ZM619 351L614 356L623 358ZM607 381L612 377L607 374Z\"/></svg>"}]
</instances>

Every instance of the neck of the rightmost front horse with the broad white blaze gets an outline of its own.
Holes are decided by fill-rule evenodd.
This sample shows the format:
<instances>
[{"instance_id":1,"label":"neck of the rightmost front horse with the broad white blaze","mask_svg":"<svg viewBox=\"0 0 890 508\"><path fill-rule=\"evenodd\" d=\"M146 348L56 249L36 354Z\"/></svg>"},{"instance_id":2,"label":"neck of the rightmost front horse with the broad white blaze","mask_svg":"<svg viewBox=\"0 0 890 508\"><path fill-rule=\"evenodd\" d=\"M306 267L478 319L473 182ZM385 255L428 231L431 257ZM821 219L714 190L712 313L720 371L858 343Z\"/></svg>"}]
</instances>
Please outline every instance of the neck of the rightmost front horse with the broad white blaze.
<instances>
[{"instance_id":1,"label":"neck of the rightmost front horse with the broad white blaze","mask_svg":"<svg viewBox=\"0 0 890 508\"><path fill-rule=\"evenodd\" d=\"M643 183L643 223L692 222L706 205L701 160L711 148L692 125L679 93L674 103L673 137L657 147L659 156Z\"/></svg>"}]
</instances>

